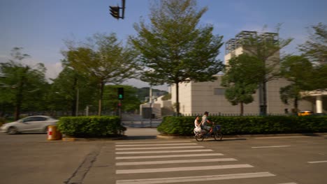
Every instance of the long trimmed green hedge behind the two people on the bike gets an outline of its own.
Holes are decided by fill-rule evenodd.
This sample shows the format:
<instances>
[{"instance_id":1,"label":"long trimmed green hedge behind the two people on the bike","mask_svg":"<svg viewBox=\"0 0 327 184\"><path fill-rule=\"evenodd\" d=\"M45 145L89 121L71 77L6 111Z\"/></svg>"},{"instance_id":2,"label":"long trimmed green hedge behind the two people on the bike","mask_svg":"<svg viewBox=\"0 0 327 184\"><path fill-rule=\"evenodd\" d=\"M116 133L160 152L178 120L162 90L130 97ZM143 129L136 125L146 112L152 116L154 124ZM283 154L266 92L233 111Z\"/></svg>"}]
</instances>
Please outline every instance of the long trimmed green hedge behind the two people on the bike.
<instances>
[{"instance_id":1,"label":"long trimmed green hedge behind the two people on the bike","mask_svg":"<svg viewBox=\"0 0 327 184\"><path fill-rule=\"evenodd\" d=\"M166 116L157 130L167 135L194 135L193 116ZM327 116L209 116L224 135L327 132Z\"/></svg>"}]
</instances>

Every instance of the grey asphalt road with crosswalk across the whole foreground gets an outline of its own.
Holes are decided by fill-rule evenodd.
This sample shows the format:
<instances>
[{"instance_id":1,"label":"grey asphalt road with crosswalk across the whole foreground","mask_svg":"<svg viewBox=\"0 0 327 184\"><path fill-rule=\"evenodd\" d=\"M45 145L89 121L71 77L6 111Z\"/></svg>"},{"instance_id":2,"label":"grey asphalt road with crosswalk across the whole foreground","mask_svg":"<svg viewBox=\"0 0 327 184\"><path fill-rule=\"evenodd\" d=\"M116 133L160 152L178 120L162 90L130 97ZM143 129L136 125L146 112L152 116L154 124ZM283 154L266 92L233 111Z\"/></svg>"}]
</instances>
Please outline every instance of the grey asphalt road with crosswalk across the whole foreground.
<instances>
[{"instance_id":1,"label":"grey asphalt road with crosswalk across the whole foreground","mask_svg":"<svg viewBox=\"0 0 327 184\"><path fill-rule=\"evenodd\" d=\"M144 130L143 132L147 132ZM0 183L327 183L327 137L48 141L0 134Z\"/></svg>"}]
</instances>

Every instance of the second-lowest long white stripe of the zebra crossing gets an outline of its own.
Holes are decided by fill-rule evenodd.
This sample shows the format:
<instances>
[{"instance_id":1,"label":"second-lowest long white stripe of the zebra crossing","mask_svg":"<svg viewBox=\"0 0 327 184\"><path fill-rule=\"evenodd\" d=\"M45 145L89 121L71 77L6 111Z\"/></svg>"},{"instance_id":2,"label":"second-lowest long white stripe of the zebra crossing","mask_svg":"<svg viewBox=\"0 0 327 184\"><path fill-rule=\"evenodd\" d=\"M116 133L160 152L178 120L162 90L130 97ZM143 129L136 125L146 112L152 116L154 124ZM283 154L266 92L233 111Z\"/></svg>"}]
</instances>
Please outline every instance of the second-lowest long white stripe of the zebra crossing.
<instances>
[{"instance_id":1,"label":"second-lowest long white stripe of the zebra crossing","mask_svg":"<svg viewBox=\"0 0 327 184\"><path fill-rule=\"evenodd\" d=\"M212 169L235 169L253 167L250 164L228 164L228 165L212 165L201 167L168 167L155 169L123 169L116 170L116 174L136 174L136 173L157 173L157 172L173 172L173 171L198 171L198 170L212 170Z\"/></svg>"}]
</instances>

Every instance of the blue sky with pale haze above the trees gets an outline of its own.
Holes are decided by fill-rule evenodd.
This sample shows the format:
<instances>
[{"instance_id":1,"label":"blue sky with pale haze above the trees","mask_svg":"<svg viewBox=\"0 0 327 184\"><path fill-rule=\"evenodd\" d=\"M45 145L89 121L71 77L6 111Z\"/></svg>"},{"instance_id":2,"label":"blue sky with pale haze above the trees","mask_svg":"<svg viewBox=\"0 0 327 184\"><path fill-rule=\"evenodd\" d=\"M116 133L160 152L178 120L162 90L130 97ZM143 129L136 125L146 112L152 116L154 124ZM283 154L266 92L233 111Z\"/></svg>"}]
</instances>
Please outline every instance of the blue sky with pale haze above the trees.
<instances>
[{"instance_id":1,"label":"blue sky with pale haze above the trees","mask_svg":"<svg viewBox=\"0 0 327 184\"><path fill-rule=\"evenodd\" d=\"M10 59L13 47L23 47L31 57L24 61L33 66L44 63L46 77L61 72L64 40L85 41L94 33L116 33L123 42L136 35L133 24L147 21L155 0L126 0L124 20L110 15L109 6L122 6L121 0L0 0L0 62ZM215 35L223 41L235 38L240 31L275 32L280 38L293 38L284 48L298 54L296 47L307 40L308 27L327 24L326 0L198 0L198 8L208 7L201 25L212 24ZM224 61L225 45L218 59ZM148 87L145 82L130 79L124 84ZM154 86L167 90L167 86Z\"/></svg>"}]
</instances>

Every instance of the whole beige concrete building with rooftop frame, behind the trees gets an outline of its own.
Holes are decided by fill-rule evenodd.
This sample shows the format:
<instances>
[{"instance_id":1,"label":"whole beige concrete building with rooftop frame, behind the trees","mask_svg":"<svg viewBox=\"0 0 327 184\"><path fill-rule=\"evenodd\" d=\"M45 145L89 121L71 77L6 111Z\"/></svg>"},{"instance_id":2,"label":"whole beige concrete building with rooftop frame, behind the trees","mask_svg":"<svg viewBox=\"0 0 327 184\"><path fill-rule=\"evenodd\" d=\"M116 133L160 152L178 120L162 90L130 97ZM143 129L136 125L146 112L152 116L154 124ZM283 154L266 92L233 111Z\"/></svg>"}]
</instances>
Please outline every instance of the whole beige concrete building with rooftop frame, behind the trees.
<instances>
[{"instance_id":1,"label":"whole beige concrete building with rooftop frame, behind the trees","mask_svg":"<svg viewBox=\"0 0 327 184\"><path fill-rule=\"evenodd\" d=\"M226 54L225 64L228 65L229 59L233 56L238 56L245 51L245 47L249 45L249 39L252 36L256 36L255 31L241 31L235 38L226 42ZM263 33L259 36L262 40L269 42L275 42L278 39L277 33ZM248 49L248 48L247 48ZM276 52L268 59L266 65L279 62L279 52ZM278 70L278 65L275 66ZM240 105L231 105L226 100L224 93L224 87L221 86L221 76L217 75L217 80L214 82L189 82L181 83L179 85L180 93L180 113L184 115L190 114L203 114L208 111L211 114L240 114ZM279 97L279 89L288 85L289 82L286 79L274 79L266 84L267 92L267 114L287 114L295 111L293 105L285 105ZM175 104L176 99L176 86L171 86L170 93L172 94L172 103ZM316 102L312 102L312 95L307 95L307 98L298 102L298 109L300 110L312 110L314 112L326 112L323 108L323 104L326 103L326 99L323 98L325 93L321 93ZM326 94L327 95L327 94ZM262 90L259 88L254 93L254 102L244 105L244 114L260 114L260 107L262 106ZM326 106L325 106L326 107Z\"/></svg>"}]
</instances>

